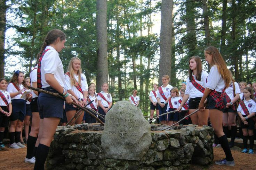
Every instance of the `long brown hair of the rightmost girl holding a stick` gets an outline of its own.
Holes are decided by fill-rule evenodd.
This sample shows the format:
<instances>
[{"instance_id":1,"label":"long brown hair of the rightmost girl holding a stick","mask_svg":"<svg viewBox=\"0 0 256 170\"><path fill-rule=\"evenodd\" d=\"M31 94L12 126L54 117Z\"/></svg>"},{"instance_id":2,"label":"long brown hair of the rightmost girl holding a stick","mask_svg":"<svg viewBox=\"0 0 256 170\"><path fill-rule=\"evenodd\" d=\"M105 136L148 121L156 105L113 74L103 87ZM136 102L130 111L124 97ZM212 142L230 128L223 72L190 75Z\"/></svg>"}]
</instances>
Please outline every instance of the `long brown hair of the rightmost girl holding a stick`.
<instances>
[{"instance_id":1,"label":"long brown hair of the rightmost girl holding a stick","mask_svg":"<svg viewBox=\"0 0 256 170\"><path fill-rule=\"evenodd\" d=\"M205 53L212 56L212 62L210 66L216 65L219 74L221 74L225 87L229 87L230 82L232 81L232 76L229 73L229 69L227 69L227 65L223 60L221 53L219 53L218 49L213 46L209 46L205 49Z\"/></svg>"}]
</instances>

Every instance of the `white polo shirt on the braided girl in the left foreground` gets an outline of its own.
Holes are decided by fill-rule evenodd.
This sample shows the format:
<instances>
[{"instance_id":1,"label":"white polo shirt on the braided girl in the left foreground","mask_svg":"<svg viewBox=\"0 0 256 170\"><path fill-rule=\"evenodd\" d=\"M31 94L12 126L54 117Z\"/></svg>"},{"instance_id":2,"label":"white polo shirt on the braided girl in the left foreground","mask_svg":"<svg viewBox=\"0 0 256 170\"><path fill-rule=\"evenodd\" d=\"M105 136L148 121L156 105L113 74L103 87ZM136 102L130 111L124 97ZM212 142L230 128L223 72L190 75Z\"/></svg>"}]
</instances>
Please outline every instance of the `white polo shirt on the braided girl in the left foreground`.
<instances>
[{"instance_id":1,"label":"white polo shirt on the braided girl in the left foreground","mask_svg":"<svg viewBox=\"0 0 256 170\"><path fill-rule=\"evenodd\" d=\"M42 88L50 87L50 85L45 80L45 74L53 74L58 83L64 88L64 70L62 61L59 58L59 53L55 48L47 46L45 50L50 49L45 53L41 61L41 82Z\"/></svg>"}]
</instances>

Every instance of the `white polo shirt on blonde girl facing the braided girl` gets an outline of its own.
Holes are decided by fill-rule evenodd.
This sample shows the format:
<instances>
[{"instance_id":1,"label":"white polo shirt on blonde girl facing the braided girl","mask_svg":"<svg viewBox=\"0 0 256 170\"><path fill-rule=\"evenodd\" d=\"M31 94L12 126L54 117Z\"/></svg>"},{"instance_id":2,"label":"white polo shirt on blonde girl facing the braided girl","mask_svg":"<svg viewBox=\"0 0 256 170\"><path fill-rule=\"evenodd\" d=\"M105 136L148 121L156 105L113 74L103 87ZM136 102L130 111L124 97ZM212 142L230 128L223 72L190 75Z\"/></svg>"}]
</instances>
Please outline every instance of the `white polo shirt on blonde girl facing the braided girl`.
<instances>
[{"instance_id":1,"label":"white polo shirt on blonde girl facing the braided girl","mask_svg":"<svg viewBox=\"0 0 256 170\"><path fill-rule=\"evenodd\" d=\"M75 80L78 82L78 75L74 74ZM82 91L88 91L88 84L85 74L81 74L81 84ZM83 94L73 85L71 86L70 77L65 74L65 89L72 90L78 98L83 99Z\"/></svg>"}]
</instances>

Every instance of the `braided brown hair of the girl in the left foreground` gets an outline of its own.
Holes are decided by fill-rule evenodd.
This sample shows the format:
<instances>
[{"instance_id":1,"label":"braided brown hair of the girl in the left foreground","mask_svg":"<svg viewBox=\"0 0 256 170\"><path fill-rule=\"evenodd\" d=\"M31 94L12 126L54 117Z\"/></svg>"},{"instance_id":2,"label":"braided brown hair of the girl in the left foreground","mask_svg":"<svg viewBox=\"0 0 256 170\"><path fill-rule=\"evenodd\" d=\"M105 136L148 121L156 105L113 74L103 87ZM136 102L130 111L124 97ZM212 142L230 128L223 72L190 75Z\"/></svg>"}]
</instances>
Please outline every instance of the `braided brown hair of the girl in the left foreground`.
<instances>
[{"instance_id":1,"label":"braided brown hair of the girl in the left foreground","mask_svg":"<svg viewBox=\"0 0 256 170\"><path fill-rule=\"evenodd\" d=\"M45 41L43 42L40 52L37 54L37 61L39 60L43 51L45 51L46 46L53 44L57 38L60 38L60 40L63 41L66 39L66 35L59 29L50 30L45 37Z\"/></svg>"}]
</instances>

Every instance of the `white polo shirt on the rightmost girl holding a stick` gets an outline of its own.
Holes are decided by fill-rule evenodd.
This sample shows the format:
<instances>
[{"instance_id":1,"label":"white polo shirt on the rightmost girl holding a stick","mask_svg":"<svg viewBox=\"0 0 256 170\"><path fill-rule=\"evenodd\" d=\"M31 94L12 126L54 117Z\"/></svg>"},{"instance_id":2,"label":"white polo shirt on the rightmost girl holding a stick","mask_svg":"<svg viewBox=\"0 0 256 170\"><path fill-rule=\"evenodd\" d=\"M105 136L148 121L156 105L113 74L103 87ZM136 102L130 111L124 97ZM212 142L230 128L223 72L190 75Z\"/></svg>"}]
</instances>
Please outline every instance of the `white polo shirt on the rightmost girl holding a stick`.
<instances>
[{"instance_id":1,"label":"white polo shirt on the rightmost girl holding a stick","mask_svg":"<svg viewBox=\"0 0 256 170\"><path fill-rule=\"evenodd\" d=\"M221 74L219 74L216 65L213 65L211 67L211 70L207 78L206 87L211 90L215 89L218 92L222 92L222 90L225 88L225 81L222 78Z\"/></svg>"}]
</instances>

